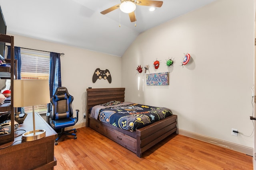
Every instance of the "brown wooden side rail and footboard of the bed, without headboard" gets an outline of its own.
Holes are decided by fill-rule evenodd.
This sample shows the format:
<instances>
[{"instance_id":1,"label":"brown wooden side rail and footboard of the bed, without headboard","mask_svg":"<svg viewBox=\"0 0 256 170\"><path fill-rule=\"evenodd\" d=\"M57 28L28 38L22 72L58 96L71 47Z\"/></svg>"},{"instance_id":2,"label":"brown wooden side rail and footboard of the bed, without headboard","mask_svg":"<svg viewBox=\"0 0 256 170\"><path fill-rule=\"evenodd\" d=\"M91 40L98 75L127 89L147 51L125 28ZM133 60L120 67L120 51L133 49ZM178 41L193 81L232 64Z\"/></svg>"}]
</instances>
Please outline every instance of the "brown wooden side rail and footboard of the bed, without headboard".
<instances>
[{"instance_id":1,"label":"brown wooden side rail and footboard of the bed, without headboard","mask_svg":"<svg viewBox=\"0 0 256 170\"><path fill-rule=\"evenodd\" d=\"M136 131L120 129L93 118L88 119L88 125L141 158L143 152L177 131L176 120L177 115L172 115Z\"/></svg>"}]
</instances>

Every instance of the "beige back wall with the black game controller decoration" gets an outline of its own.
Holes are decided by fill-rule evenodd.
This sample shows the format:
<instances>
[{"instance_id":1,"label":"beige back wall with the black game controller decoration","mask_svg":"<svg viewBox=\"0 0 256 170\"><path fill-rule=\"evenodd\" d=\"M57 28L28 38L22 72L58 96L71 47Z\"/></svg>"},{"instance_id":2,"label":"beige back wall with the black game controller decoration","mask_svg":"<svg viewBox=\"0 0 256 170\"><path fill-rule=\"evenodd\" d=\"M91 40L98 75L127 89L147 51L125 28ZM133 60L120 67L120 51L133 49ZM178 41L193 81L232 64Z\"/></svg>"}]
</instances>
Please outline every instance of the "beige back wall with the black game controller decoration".
<instances>
[{"instance_id":1,"label":"beige back wall with the black game controller decoration","mask_svg":"<svg viewBox=\"0 0 256 170\"><path fill-rule=\"evenodd\" d=\"M86 88L121 87L121 57L7 34L14 36L15 46L65 54L60 59L62 86L68 88L68 92L74 96L73 111L75 109L80 110L78 123L83 123L85 120L83 119L83 113L85 113L86 106ZM95 83L92 82L92 75L96 68L110 71L111 84L108 83L108 80L103 79L96 80Z\"/></svg>"}]
</instances>

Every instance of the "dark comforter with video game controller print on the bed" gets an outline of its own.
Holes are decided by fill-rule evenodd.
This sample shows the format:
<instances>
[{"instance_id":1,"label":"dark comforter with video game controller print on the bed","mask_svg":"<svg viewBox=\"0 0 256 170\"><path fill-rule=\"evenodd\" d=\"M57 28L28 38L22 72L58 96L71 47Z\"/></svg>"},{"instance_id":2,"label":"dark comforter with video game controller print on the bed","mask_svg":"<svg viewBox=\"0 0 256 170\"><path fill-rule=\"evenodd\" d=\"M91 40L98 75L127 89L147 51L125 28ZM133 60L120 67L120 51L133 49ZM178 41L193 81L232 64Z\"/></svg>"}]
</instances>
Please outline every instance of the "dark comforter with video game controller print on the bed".
<instances>
[{"instance_id":1,"label":"dark comforter with video game controller print on the bed","mask_svg":"<svg viewBox=\"0 0 256 170\"><path fill-rule=\"evenodd\" d=\"M102 107L98 112L98 119L121 129L136 131L172 115L172 111L165 107L128 103Z\"/></svg>"}]
</instances>

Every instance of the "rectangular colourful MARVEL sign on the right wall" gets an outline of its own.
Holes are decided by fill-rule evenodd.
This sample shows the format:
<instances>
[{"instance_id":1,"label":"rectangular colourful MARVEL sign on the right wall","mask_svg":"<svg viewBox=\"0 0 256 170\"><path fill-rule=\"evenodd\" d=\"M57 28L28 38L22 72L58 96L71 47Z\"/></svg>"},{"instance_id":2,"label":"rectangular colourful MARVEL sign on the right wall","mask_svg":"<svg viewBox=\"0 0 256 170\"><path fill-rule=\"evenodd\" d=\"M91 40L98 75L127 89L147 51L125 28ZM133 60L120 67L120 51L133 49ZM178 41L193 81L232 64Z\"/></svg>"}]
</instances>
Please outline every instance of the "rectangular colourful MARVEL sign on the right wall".
<instances>
[{"instance_id":1,"label":"rectangular colourful MARVEL sign on the right wall","mask_svg":"<svg viewBox=\"0 0 256 170\"><path fill-rule=\"evenodd\" d=\"M146 74L147 86L166 86L169 85L169 72Z\"/></svg>"}]
</instances>

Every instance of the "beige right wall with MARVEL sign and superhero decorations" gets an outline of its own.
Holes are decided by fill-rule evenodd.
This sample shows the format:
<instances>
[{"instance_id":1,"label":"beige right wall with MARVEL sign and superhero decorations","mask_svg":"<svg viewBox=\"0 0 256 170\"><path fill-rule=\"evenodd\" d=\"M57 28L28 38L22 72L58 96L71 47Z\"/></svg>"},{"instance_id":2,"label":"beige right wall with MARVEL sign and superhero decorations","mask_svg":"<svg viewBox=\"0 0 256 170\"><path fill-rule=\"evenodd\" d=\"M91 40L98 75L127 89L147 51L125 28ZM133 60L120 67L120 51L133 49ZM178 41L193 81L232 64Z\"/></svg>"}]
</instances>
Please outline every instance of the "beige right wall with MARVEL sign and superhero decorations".
<instances>
[{"instance_id":1,"label":"beige right wall with MARVEL sign and superhero decorations","mask_svg":"<svg viewBox=\"0 0 256 170\"><path fill-rule=\"evenodd\" d=\"M192 59L182 67L184 53ZM170 72L170 85L146 86L136 70L146 64L147 73ZM253 147L253 137L231 135L253 131L253 71L254 1L217 0L141 33L122 56L122 87L126 101L172 109L179 129Z\"/></svg>"}]
</instances>

